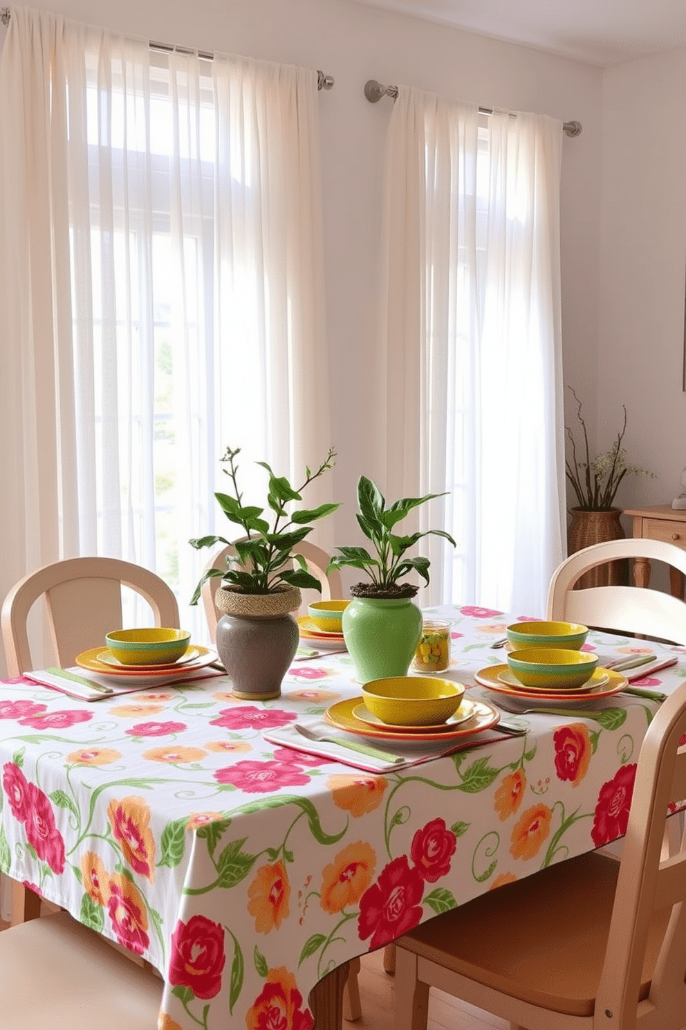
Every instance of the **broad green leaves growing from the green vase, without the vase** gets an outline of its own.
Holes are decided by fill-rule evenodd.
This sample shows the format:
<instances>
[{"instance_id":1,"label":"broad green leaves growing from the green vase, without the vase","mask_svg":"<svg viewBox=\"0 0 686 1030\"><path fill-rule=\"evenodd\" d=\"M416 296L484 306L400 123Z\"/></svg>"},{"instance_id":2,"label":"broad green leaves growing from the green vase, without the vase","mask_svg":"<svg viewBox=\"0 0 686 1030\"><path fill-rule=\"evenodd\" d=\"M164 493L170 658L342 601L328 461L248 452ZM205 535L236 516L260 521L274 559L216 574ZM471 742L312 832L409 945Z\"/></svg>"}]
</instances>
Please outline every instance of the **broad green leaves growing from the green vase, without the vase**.
<instances>
[{"instance_id":1,"label":"broad green leaves growing from the green vase, without the vase","mask_svg":"<svg viewBox=\"0 0 686 1030\"><path fill-rule=\"evenodd\" d=\"M359 512L357 521L362 533L371 541L375 556L364 547L337 547L338 554L329 562L329 569L342 569L348 565L362 569L369 576L371 583L357 583L351 588L356 596L380 596L390 594L395 597L411 597L419 587L411 583L398 583L398 580L410 572L418 572L426 583L429 582L429 559L425 557L405 557L405 552L422 537L434 535L444 537L455 547L455 541L443 529L428 529L425 533L412 533L401 537L394 533L395 526L413 508L443 496L441 493L428 493L425 497L403 497L387 507L386 499L375 483L366 476L360 476L357 484L357 502Z\"/></svg>"}]
</instances>

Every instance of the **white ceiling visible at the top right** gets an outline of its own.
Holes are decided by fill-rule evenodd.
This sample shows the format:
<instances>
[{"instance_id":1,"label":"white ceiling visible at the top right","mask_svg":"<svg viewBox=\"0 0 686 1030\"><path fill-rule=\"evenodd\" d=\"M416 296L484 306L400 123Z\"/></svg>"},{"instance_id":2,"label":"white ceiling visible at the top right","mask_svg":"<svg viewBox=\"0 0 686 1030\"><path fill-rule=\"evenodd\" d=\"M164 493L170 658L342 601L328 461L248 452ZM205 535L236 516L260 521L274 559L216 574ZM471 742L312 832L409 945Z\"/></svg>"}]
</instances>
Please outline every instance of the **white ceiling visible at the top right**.
<instances>
[{"instance_id":1,"label":"white ceiling visible at the top right","mask_svg":"<svg viewBox=\"0 0 686 1030\"><path fill-rule=\"evenodd\" d=\"M684 0L356 0L586 64L686 46Z\"/></svg>"}]
</instances>

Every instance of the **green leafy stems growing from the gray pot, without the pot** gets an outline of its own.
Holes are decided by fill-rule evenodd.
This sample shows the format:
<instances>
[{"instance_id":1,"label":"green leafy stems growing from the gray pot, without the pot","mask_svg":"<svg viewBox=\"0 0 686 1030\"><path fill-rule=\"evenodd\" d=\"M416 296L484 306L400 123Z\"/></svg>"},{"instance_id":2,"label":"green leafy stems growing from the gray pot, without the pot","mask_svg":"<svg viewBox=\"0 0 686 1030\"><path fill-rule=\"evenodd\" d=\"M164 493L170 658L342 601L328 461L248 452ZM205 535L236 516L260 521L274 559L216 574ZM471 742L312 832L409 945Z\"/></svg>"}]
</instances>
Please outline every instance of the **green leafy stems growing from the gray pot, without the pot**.
<instances>
[{"instance_id":1,"label":"green leafy stems growing from the gray pot, without the pot","mask_svg":"<svg viewBox=\"0 0 686 1030\"><path fill-rule=\"evenodd\" d=\"M321 590L319 580L308 572L304 558L293 554L293 548L312 533L308 523L324 518L334 512L338 505L326 504L319 508L299 508L288 511L287 505L302 500L302 491L315 479L333 467L336 452L329 449L326 458L316 472L305 468L305 479L301 486L294 489L285 476L277 476L266 461L258 461L269 474L266 502L274 512L274 524L263 518L264 509L254 506L244 506L243 494L238 484L237 457L241 448L226 449L222 461L228 465L223 472L231 481L231 493L215 493L229 522L241 526L245 540L228 541L224 537L208 536L191 540L192 547L212 547L216 544L231 544L236 548L238 561L230 561L226 569L209 569L195 587L190 600L196 605L201 590L206 580L221 576L223 585L239 593L276 593L287 587L302 587ZM293 562L297 568L293 568Z\"/></svg>"}]
</instances>

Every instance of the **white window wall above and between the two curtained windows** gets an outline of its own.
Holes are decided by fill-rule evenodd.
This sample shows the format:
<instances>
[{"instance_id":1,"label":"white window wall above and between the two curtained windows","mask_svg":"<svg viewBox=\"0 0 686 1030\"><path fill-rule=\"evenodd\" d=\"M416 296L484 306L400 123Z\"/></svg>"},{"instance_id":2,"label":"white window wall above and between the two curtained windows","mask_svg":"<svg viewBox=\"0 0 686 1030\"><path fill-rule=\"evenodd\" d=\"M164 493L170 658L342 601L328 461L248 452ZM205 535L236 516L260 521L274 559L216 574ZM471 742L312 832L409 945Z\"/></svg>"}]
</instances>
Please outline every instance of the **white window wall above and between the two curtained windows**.
<instances>
[{"instance_id":1,"label":"white window wall above and between the two curtained windows","mask_svg":"<svg viewBox=\"0 0 686 1030\"><path fill-rule=\"evenodd\" d=\"M369 355L374 347L383 148L392 102L369 104L363 95L368 78L582 123L582 135L566 138L564 145L563 337L565 380L590 401L592 428L601 214L598 68L349 0L33 0L32 6L161 42L314 66L335 77L334 89L320 94L320 124L331 442L339 454L334 491L345 503L334 529L339 543L358 539L358 475L375 475L369 427L376 384ZM637 404L633 398L629 402L634 418ZM633 422L633 430L637 425ZM322 441L322 453L328 443ZM654 464L653 455L646 460Z\"/></svg>"}]
</instances>

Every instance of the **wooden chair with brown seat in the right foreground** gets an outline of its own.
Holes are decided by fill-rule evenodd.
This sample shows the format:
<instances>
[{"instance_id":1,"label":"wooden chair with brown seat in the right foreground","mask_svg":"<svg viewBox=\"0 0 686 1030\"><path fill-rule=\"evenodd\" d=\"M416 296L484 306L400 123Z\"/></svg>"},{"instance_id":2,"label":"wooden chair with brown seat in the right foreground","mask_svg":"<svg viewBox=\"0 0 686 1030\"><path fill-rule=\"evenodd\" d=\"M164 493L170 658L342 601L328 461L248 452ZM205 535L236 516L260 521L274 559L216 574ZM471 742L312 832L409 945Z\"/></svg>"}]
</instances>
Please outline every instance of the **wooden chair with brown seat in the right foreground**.
<instances>
[{"instance_id":1,"label":"wooden chair with brown seat in the right foreground","mask_svg":"<svg viewBox=\"0 0 686 1030\"><path fill-rule=\"evenodd\" d=\"M430 987L512 1030L686 1026L684 839L660 856L667 806L686 798L685 732L686 684L644 739L620 862L559 861L397 941L396 1030L425 1030Z\"/></svg>"}]
</instances>

